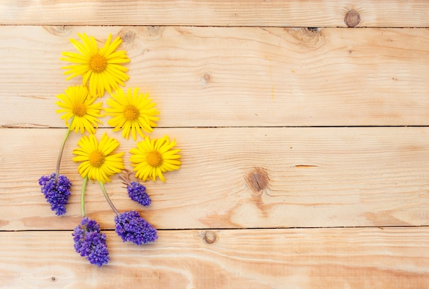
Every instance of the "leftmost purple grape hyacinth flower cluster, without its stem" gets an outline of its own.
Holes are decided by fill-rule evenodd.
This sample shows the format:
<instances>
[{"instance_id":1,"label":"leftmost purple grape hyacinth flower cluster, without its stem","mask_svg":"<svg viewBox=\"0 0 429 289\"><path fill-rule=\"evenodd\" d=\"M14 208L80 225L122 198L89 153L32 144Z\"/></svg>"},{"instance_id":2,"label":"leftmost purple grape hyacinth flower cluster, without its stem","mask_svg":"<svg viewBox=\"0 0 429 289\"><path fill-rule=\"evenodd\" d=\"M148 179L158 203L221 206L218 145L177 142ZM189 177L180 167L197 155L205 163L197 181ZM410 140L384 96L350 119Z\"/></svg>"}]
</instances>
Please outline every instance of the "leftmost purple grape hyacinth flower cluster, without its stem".
<instances>
[{"instance_id":1,"label":"leftmost purple grape hyacinth flower cluster, without its stem","mask_svg":"<svg viewBox=\"0 0 429 289\"><path fill-rule=\"evenodd\" d=\"M69 201L71 181L65 175L59 175L55 181L55 173L42 175L39 185L45 199L51 204L51 210L58 216L66 214L66 204Z\"/></svg>"}]
</instances>

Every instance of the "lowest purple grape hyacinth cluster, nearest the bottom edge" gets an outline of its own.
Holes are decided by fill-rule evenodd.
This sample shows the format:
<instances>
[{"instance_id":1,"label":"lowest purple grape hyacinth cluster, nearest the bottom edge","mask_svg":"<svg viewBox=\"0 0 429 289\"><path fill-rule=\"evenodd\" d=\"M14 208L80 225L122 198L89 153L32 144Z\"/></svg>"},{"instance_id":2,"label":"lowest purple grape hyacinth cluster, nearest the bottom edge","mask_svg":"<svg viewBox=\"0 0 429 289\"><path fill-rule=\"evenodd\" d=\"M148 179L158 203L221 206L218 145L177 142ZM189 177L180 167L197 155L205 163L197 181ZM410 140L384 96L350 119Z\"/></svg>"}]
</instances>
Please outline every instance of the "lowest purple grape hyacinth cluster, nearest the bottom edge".
<instances>
[{"instance_id":1,"label":"lowest purple grape hyacinth cluster, nearest the bottom edge","mask_svg":"<svg viewBox=\"0 0 429 289\"><path fill-rule=\"evenodd\" d=\"M90 264L101 267L109 261L109 252L106 246L106 234L100 233L100 225L88 217L82 218L80 225L75 227L71 234L75 241L75 250Z\"/></svg>"}]
</instances>

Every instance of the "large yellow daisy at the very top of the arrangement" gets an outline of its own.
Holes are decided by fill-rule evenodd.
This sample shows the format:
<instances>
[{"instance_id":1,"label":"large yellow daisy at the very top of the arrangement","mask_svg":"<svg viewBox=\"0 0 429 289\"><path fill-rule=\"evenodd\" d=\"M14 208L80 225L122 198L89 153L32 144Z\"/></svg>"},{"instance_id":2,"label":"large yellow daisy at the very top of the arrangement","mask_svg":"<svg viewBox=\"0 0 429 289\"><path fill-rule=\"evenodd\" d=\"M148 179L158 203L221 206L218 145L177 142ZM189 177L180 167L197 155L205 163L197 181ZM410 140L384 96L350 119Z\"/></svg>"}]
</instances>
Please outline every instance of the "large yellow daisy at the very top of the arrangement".
<instances>
[{"instance_id":1,"label":"large yellow daisy at the very top of the arrangement","mask_svg":"<svg viewBox=\"0 0 429 289\"><path fill-rule=\"evenodd\" d=\"M60 58L74 63L63 67L69 69L64 72L64 75L70 75L66 80L82 75L82 83L86 85L89 81L89 91L93 97L103 97L105 90L111 93L118 88L118 84L124 86L123 81L130 77L125 73L128 69L121 64L130 62L130 59L126 51L114 51L121 44L121 38L117 37L110 43L112 35L109 34L106 44L99 49L93 36L77 35L83 43L75 39L70 39L70 42L80 53L63 52L66 58Z\"/></svg>"}]
</instances>

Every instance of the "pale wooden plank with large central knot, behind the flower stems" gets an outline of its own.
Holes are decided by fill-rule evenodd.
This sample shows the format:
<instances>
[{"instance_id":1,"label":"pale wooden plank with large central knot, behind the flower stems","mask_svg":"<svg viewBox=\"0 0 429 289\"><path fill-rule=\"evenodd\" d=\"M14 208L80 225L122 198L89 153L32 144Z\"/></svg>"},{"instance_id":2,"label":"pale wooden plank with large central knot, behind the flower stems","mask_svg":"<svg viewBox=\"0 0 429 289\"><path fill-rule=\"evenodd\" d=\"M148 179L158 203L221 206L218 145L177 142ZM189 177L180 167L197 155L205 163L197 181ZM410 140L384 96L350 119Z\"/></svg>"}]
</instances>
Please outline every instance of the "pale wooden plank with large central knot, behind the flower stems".
<instances>
[{"instance_id":1,"label":"pale wooden plank with large central knot, behind the flower stems","mask_svg":"<svg viewBox=\"0 0 429 289\"><path fill-rule=\"evenodd\" d=\"M135 144L108 131L121 150ZM58 218L37 179L55 169L64 129L0 129L0 229L72 229L82 179L71 151L61 172L73 181ZM429 225L429 127L169 128L182 168L167 183L148 181L153 203L132 202L119 178L106 188L118 209L139 210L161 229ZM131 169L125 155L125 167ZM112 210L88 184L86 211L113 228Z\"/></svg>"}]
</instances>

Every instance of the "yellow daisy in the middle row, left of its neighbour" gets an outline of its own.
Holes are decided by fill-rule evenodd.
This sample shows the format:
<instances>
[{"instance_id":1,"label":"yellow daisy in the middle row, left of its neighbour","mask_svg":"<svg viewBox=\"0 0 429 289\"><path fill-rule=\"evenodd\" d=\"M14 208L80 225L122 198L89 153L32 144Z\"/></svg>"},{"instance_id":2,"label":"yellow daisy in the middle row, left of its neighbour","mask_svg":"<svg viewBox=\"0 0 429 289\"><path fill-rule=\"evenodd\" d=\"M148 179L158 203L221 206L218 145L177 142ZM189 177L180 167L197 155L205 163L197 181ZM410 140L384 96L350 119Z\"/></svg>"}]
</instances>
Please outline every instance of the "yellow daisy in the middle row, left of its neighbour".
<instances>
[{"instance_id":1,"label":"yellow daisy in the middle row, left of its neighbour","mask_svg":"<svg viewBox=\"0 0 429 289\"><path fill-rule=\"evenodd\" d=\"M66 125L70 127L70 130L75 129L75 133L79 131L84 134L85 130L90 134L95 134L95 128L98 128L97 123L99 117L101 117L101 105L103 103L94 103L95 98L89 96L88 88L86 86L69 86L65 91L57 95L60 101L56 104L62 108L56 110L58 114L62 114L61 119L66 121ZM73 117L74 116L74 117ZM73 118L70 126L67 121Z\"/></svg>"}]
</instances>

